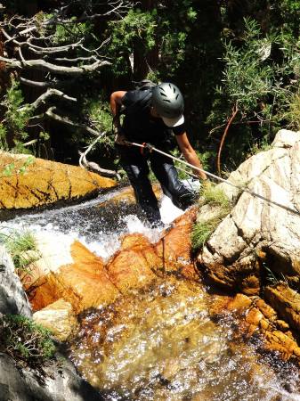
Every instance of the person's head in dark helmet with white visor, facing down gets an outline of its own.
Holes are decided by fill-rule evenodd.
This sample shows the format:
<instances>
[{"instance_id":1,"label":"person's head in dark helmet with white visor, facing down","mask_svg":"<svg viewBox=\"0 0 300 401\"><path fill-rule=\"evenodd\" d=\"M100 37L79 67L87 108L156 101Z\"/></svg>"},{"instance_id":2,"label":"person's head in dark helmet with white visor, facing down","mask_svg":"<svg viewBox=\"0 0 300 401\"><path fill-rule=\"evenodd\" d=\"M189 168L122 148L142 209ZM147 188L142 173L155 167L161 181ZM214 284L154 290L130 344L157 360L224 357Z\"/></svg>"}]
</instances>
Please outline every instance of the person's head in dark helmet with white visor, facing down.
<instances>
[{"instance_id":1,"label":"person's head in dark helmet with white visor, facing down","mask_svg":"<svg viewBox=\"0 0 300 401\"><path fill-rule=\"evenodd\" d=\"M182 93L177 86L170 82L154 86L151 106L154 114L163 119L167 127L176 127L184 122Z\"/></svg>"}]
</instances>

